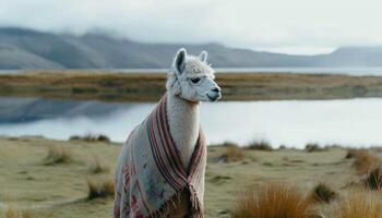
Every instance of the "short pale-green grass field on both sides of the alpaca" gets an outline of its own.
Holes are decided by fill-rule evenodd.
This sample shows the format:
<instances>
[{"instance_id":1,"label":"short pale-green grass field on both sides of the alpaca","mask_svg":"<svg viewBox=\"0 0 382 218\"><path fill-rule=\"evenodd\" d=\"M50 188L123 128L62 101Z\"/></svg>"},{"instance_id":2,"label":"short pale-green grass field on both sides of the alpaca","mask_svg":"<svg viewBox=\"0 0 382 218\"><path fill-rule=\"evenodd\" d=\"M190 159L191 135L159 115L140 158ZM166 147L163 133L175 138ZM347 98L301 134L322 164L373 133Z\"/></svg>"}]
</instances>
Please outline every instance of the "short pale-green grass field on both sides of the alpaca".
<instances>
[{"instance_id":1,"label":"short pale-green grass field on both sides of the alpaca","mask_svg":"<svg viewBox=\"0 0 382 218\"><path fill-rule=\"evenodd\" d=\"M29 218L110 217L112 196L88 199L88 184L112 181L120 149L119 144L107 142L0 137L0 217L7 217L9 208ZM382 155L377 148L372 153L375 158ZM315 184L325 182L345 194L360 178L355 160L346 155L347 149L341 147L263 150L255 146L210 146L206 217L231 217L237 199L249 185L255 190L283 182L309 195ZM330 205L314 208L326 211Z\"/></svg>"}]
</instances>

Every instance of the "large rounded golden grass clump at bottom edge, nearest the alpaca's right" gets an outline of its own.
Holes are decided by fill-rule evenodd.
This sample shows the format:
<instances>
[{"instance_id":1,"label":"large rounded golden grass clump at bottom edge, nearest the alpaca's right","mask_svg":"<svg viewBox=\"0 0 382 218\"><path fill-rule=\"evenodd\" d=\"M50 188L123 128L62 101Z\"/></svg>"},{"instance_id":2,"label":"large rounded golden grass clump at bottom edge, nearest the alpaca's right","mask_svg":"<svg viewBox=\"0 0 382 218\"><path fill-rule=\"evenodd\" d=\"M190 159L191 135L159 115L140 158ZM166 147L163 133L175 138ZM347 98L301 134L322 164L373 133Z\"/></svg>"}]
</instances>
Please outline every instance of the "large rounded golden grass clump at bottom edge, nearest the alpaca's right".
<instances>
[{"instance_id":1,"label":"large rounded golden grass clump at bottom edge, nearest the alpaca's right","mask_svg":"<svg viewBox=\"0 0 382 218\"><path fill-rule=\"evenodd\" d=\"M250 187L236 202L236 218L308 218L310 202L297 187L272 183Z\"/></svg>"}]
</instances>

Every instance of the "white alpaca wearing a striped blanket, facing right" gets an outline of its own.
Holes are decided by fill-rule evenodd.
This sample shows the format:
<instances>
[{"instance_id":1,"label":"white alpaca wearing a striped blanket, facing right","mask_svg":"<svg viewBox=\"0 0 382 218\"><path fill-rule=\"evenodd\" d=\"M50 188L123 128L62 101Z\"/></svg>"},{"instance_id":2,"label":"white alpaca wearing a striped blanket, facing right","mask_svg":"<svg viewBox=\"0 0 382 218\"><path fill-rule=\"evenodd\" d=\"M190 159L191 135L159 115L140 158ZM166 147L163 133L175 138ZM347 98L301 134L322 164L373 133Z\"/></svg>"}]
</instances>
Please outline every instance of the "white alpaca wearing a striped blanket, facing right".
<instances>
[{"instance_id":1,"label":"white alpaca wearing a striped blanket, facing right","mask_svg":"<svg viewBox=\"0 0 382 218\"><path fill-rule=\"evenodd\" d=\"M200 101L217 101L220 88L207 52L180 49L166 94L129 135L116 170L115 218L204 217L206 147Z\"/></svg>"}]
</instances>

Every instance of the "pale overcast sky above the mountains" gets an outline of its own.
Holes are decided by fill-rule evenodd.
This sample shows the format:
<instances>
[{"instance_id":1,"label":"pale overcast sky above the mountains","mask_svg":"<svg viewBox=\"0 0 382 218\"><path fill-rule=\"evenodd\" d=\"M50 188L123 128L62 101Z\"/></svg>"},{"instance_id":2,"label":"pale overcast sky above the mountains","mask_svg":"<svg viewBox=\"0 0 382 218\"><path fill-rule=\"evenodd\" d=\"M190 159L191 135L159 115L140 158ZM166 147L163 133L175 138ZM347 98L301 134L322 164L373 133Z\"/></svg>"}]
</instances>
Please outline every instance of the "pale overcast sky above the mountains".
<instances>
[{"instance_id":1,"label":"pale overcast sky above the mountains","mask_svg":"<svg viewBox=\"0 0 382 218\"><path fill-rule=\"evenodd\" d=\"M288 53L382 45L381 0L0 0L0 26Z\"/></svg>"}]
</instances>

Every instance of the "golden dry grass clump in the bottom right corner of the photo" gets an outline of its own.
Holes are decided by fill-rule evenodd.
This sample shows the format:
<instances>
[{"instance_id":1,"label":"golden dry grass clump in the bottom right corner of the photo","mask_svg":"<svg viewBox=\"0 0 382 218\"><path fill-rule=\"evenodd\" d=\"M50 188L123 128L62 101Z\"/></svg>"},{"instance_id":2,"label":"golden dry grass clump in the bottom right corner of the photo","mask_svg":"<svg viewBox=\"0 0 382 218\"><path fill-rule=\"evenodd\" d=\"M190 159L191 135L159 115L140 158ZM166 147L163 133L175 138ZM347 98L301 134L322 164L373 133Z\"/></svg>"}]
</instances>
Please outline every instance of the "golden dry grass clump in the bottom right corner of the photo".
<instances>
[{"instance_id":1,"label":"golden dry grass clump in the bottom right corner of the photo","mask_svg":"<svg viewBox=\"0 0 382 218\"><path fill-rule=\"evenodd\" d=\"M327 218L382 218L380 193L367 190L351 191L336 203Z\"/></svg>"}]
</instances>

